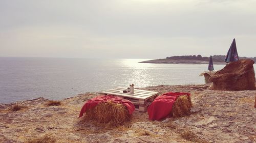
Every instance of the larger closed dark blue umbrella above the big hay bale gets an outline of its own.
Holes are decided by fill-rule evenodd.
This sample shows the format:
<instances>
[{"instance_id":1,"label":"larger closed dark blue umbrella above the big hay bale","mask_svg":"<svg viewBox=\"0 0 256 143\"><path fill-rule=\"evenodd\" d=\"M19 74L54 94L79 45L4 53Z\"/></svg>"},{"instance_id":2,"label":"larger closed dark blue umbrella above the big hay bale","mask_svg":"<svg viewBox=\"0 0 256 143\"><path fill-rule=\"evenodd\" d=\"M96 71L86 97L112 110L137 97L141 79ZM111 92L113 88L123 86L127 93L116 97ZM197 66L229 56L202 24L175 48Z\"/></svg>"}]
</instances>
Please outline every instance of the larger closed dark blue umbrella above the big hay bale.
<instances>
[{"instance_id":1,"label":"larger closed dark blue umbrella above the big hay bale","mask_svg":"<svg viewBox=\"0 0 256 143\"><path fill-rule=\"evenodd\" d=\"M238 59L236 40L233 39L233 42L227 51L225 62L228 63L228 62L234 62L234 61L238 61L238 60L239 59Z\"/></svg>"}]
</instances>

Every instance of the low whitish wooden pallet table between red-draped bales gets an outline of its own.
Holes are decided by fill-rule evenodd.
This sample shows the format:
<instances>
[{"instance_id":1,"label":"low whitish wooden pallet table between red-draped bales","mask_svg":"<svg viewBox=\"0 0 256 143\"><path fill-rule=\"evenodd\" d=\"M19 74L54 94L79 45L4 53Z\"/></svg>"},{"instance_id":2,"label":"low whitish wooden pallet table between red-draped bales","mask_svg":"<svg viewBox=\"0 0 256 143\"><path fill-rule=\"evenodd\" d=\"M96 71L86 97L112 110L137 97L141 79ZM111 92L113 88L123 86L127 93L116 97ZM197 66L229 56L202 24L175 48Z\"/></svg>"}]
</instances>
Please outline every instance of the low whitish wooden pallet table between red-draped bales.
<instances>
[{"instance_id":1,"label":"low whitish wooden pallet table between red-draped bales","mask_svg":"<svg viewBox=\"0 0 256 143\"><path fill-rule=\"evenodd\" d=\"M113 89L108 89L101 91L100 93L105 95L114 95L122 99L130 100L134 106L135 110L146 112L147 106L151 104L156 97L158 97L158 92L145 91L145 90L134 90L134 93L123 93L126 88L118 87Z\"/></svg>"}]
</instances>

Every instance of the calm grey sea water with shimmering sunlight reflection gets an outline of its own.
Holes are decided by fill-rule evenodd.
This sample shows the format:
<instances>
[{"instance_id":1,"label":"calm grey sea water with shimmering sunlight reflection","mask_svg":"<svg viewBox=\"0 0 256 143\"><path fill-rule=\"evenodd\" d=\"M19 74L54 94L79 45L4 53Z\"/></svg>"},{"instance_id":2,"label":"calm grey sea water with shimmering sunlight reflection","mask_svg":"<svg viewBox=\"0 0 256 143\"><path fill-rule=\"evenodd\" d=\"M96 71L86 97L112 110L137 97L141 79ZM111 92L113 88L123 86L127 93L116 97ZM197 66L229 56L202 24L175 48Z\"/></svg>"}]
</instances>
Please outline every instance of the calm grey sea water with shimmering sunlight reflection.
<instances>
[{"instance_id":1,"label":"calm grey sea water with shimmering sunlight reflection","mask_svg":"<svg viewBox=\"0 0 256 143\"><path fill-rule=\"evenodd\" d=\"M114 87L203 84L208 65L145 64L146 59L0 58L0 103L63 99ZM216 70L224 65L214 65Z\"/></svg>"}]
</instances>

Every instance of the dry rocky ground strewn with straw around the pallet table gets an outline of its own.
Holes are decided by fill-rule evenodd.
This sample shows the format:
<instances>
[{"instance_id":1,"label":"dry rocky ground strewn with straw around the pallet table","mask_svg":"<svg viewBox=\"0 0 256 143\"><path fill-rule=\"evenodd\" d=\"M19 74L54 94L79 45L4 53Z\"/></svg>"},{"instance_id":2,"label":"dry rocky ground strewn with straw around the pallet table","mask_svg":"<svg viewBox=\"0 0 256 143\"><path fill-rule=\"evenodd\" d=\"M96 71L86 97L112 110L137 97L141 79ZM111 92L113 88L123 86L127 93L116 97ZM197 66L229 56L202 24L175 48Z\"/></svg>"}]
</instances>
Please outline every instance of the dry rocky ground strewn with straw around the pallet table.
<instances>
[{"instance_id":1,"label":"dry rocky ground strewn with straw around the pallet table","mask_svg":"<svg viewBox=\"0 0 256 143\"><path fill-rule=\"evenodd\" d=\"M28 142L48 137L52 142L256 142L256 91L214 91L207 85L159 85L141 88L189 92L193 108L182 118L148 120L135 111L132 121L119 127L78 119L84 102L98 93L86 93L48 106L48 99L0 104L0 142Z\"/></svg>"}]
</instances>

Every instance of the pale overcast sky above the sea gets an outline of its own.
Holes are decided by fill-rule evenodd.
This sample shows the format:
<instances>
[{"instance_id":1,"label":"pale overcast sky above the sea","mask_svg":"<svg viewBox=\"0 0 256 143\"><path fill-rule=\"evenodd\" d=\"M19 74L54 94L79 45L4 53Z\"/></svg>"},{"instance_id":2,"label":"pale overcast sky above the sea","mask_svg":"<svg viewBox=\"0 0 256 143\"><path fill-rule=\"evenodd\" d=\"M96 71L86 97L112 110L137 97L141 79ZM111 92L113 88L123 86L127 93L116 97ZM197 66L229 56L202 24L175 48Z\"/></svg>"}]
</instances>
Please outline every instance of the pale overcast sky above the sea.
<instances>
[{"instance_id":1,"label":"pale overcast sky above the sea","mask_svg":"<svg viewBox=\"0 0 256 143\"><path fill-rule=\"evenodd\" d=\"M0 56L256 56L255 0L0 0Z\"/></svg>"}]
</instances>

